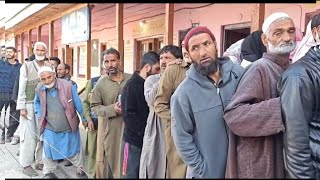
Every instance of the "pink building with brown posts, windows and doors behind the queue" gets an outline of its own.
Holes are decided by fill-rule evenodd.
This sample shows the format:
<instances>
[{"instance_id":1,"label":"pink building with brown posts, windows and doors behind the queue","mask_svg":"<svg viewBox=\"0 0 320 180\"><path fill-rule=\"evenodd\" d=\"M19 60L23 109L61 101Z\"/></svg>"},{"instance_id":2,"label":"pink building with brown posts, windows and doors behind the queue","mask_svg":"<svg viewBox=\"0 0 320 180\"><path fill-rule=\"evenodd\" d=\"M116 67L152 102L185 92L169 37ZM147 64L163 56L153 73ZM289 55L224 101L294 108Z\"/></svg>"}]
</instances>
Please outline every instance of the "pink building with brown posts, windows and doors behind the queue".
<instances>
[{"instance_id":1,"label":"pink building with brown posts, windows and doors behind the queue","mask_svg":"<svg viewBox=\"0 0 320 180\"><path fill-rule=\"evenodd\" d=\"M255 4L173 4L173 15L166 13L166 5L130 3L123 5L123 64L124 71L138 69L140 57L149 50L159 50L166 40L180 45L180 34L192 25L209 27L216 36L220 55L232 43L246 37L258 18ZM62 44L62 18L80 8L91 9L90 39L84 42ZM264 17L273 12L285 12L295 25L305 31L311 16L320 9L317 4L264 4ZM84 79L99 74L101 52L109 47L118 48L116 4L49 4L24 20L6 28L6 39L14 36L19 59L30 55L30 45L41 40L50 46L48 55L58 56L73 68L74 79ZM168 18L173 17L173 23ZM89 21L90 22L90 21ZM261 25L261 24L260 24ZM168 28L173 32L170 36ZM13 34L13 35L10 35ZM50 36L51 34L51 36ZM50 43L51 41L52 43ZM87 65L91 67L88 68ZM89 74L89 76L87 76Z\"/></svg>"}]
</instances>

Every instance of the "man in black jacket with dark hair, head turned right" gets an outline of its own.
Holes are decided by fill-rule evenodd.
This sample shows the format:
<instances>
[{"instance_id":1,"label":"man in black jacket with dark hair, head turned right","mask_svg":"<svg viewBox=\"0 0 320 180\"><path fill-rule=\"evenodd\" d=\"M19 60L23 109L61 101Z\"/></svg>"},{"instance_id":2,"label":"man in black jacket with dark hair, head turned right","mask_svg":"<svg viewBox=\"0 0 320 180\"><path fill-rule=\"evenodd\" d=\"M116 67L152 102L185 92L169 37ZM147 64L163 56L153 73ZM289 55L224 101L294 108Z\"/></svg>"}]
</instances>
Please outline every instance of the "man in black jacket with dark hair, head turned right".
<instances>
[{"instance_id":1,"label":"man in black jacket with dark hair, head turned right","mask_svg":"<svg viewBox=\"0 0 320 180\"><path fill-rule=\"evenodd\" d=\"M142 56L141 70L134 72L121 94L125 123L121 148L121 178L139 178L140 156L149 107L144 98L144 80L160 72L160 56L149 51Z\"/></svg>"}]
</instances>

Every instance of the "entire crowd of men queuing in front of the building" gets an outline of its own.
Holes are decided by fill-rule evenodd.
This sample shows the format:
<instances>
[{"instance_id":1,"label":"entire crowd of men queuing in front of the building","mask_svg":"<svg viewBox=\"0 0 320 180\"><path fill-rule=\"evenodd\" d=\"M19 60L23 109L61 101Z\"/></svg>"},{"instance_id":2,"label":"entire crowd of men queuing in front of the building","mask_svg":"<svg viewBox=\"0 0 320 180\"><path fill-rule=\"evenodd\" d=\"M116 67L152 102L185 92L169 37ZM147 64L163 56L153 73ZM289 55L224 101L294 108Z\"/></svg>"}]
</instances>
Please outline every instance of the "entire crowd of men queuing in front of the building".
<instances>
[{"instance_id":1,"label":"entire crowd of men queuing in front of the building","mask_svg":"<svg viewBox=\"0 0 320 180\"><path fill-rule=\"evenodd\" d=\"M20 142L23 173L44 178L66 161L79 178L320 180L319 33L320 15L303 36L276 12L219 57L210 29L193 27L181 47L143 54L133 74L109 48L83 100L45 43L22 65L2 47L1 143Z\"/></svg>"}]
</instances>

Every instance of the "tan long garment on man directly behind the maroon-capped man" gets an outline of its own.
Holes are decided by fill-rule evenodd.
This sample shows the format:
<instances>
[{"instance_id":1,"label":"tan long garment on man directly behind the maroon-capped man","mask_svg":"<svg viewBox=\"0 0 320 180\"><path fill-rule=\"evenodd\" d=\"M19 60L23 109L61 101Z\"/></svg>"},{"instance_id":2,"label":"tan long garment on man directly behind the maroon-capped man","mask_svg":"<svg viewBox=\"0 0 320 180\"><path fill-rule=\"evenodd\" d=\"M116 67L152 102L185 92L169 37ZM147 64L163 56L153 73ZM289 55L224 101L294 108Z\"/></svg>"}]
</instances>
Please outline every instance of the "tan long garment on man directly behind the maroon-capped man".
<instances>
[{"instance_id":1,"label":"tan long garment on man directly behind the maroon-capped man","mask_svg":"<svg viewBox=\"0 0 320 180\"><path fill-rule=\"evenodd\" d=\"M182 61L180 65L166 68L160 77L159 88L154 103L154 111L165 124L166 135L166 178L185 178L187 165L181 160L171 136L170 99L179 84L186 78L189 65Z\"/></svg>"}]
</instances>

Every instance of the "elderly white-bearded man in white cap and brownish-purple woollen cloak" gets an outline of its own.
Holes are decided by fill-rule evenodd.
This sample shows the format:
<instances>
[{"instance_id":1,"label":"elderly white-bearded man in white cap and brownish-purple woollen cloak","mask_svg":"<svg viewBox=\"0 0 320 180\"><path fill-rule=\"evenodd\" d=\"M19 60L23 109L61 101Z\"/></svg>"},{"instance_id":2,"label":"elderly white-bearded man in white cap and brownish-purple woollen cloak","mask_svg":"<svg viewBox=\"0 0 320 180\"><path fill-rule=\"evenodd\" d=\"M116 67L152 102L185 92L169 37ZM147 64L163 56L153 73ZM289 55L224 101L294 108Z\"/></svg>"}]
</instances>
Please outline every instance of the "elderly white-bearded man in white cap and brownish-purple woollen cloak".
<instances>
[{"instance_id":1,"label":"elderly white-bearded man in white cap and brownish-purple woollen cloak","mask_svg":"<svg viewBox=\"0 0 320 180\"><path fill-rule=\"evenodd\" d=\"M226 178L284 178L285 127L277 82L290 64L295 26L285 13L273 13L262 26L267 52L243 75L225 110L230 128Z\"/></svg>"}]
</instances>

